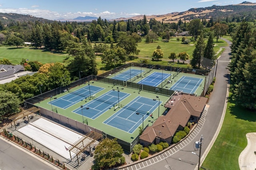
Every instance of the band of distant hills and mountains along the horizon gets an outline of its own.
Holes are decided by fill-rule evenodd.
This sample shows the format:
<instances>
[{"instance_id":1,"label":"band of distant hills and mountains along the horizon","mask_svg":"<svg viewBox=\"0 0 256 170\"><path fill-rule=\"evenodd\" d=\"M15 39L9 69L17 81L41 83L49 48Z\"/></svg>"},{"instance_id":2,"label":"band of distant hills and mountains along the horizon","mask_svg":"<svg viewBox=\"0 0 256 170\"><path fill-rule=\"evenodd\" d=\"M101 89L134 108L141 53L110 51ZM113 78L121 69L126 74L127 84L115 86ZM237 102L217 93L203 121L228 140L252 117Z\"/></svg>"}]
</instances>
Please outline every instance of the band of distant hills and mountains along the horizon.
<instances>
[{"instance_id":1,"label":"band of distant hills and mountains along the horizon","mask_svg":"<svg viewBox=\"0 0 256 170\"><path fill-rule=\"evenodd\" d=\"M131 18L116 18L116 19L107 19L110 21L116 20L142 20L144 15L134 16ZM151 15L146 16L147 20L155 19L160 22L178 22L179 20L186 20L189 22L195 18L199 19L210 19L213 18L214 21L220 19L225 20L227 17L234 18L239 17L240 19L256 20L256 3L252 2L242 2L236 5L226 5L226 6L210 6L206 8L191 8L184 12L172 12L164 15ZM102 18L102 17L101 17ZM92 16L80 16L74 19L58 19L57 21L66 22L66 21L76 21L76 22L91 22L92 20L97 20L97 17ZM102 18L104 19L104 18ZM0 21L5 25L13 21L41 21L41 22L53 22L52 20L46 20L44 18L37 18L31 15L22 15L14 13L0 13Z\"/></svg>"}]
</instances>

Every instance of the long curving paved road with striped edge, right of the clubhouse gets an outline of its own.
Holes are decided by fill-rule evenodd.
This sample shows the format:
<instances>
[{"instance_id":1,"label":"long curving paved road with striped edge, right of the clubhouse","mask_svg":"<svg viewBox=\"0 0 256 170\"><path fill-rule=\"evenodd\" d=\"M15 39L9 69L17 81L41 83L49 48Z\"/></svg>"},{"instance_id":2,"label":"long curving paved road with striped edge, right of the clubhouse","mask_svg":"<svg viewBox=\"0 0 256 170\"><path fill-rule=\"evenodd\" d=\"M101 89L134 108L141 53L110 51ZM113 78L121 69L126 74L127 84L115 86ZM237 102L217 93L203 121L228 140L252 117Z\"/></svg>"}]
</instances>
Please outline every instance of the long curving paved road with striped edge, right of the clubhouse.
<instances>
[{"instance_id":1,"label":"long curving paved road with striped edge, right of the clubhouse","mask_svg":"<svg viewBox=\"0 0 256 170\"><path fill-rule=\"evenodd\" d=\"M228 42L230 45L230 42ZM222 124L224 113L226 111L226 97L228 89L228 69L227 65L230 58L230 47L225 47L226 50L218 59L218 66L216 71L216 81L214 84L214 90L212 92L210 101L208 103L209 108L207 113L202 114L201 123L198 123L198 127L192 132L184 142L178 144L174 148L138 164L123 168L124 170L157 170L157 169L170 169L170 170L193 170L198 168L199 151L195 151L194 142L200 139L203 135L201 163L206 157L210 147L212 146L219 129ZM192 154L195 152L197 155ZM207 167L206 167L207 168Z\"/></svg>"}]
</instances>

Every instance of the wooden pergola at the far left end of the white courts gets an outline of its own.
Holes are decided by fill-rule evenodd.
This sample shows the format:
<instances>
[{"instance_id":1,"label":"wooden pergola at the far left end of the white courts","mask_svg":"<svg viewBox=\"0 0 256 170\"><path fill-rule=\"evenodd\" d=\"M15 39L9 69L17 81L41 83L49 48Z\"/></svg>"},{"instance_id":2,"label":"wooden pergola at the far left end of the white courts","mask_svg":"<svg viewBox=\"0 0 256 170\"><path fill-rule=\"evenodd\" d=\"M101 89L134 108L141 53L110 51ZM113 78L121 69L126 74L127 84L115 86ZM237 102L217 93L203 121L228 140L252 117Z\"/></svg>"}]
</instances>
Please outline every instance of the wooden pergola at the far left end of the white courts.
<instances>
[{"instance_id":1,"label":"wooden pergola at the far left end of the white courts","mask_svg":"<svg viewBox=\"0 0 256 170\"><path fill-rule=\"evenodd\" d=\"M29 122L28 115L36 114L36 112L39 112L40 117L41 117L40 109L38 109L37 107L30 107L29 109L26 109L26 110L22 109L22 111L20 113L17 113L15 115L10 116L9 119L14 121L14 126L16 128L15 121L18 121L21 118L27 117L28 118L28 122ZM12 122L11 122L11 125L12 125Z\"/></svg>"}]
</instances>

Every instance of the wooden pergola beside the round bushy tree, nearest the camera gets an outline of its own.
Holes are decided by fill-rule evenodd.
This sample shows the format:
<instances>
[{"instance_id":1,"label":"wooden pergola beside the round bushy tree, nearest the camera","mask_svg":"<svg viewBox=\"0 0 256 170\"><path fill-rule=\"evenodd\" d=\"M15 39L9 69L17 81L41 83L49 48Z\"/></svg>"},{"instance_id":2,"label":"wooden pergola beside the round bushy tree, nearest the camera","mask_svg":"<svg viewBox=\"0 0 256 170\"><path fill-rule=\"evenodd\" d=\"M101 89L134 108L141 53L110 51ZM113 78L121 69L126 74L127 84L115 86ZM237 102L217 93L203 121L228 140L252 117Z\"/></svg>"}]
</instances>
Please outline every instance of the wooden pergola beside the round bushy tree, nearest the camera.
<instances>
[{"instance_id":1,"label":"wooden pergola beside the round bushy tree, nearest the camera","mask_svg":"<svg viewBox=\"0 0 256 170\"><path fill-rule=\"evenodd\" d=\"M72 157L71 157L71 150L72 150L76 154L76 158L79 164L78 155L82 154L84 151L89 151L91 154L92 153L91 148L96 147L97 144L95 144L95 142L100 140L102 137L103 137L102 134L94 131L90 131L86 133L86 135L83 135L82 138L77 140L72 146L68 148L70 153L70 159L72 160Z\"/></svg>"}]
</instances>

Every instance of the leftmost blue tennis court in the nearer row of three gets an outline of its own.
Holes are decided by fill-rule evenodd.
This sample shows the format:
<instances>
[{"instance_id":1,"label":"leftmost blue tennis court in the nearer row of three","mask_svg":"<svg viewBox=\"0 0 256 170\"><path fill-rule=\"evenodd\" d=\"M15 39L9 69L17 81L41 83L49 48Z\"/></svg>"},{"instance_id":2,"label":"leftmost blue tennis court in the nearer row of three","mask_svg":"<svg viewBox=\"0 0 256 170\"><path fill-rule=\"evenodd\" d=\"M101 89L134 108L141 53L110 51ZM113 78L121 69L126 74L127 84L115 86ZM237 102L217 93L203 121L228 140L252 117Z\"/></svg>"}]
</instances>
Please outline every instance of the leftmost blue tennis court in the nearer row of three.
<instances>
[{"instance_id":1,"label":"leftmost blue tennis court in the nearer row of three","mask_svg":"<svg viewBox=\"0 0 256 170\"><path fill-rule=\"evenodd\" d=\"M56 107L60 107L62 109L67 109L68 107L78 103L79 101L86 99L90 97L90 95L94 95L95 93L98 93L99 91L102 91L104 88L93 86L93 85L87 85L81 89L78 89L76 91L69 91L67 95L64 95L58 99L54 99L50 102L48 102L49 105L54 105Z\"/></svg>"}]
</instances>

